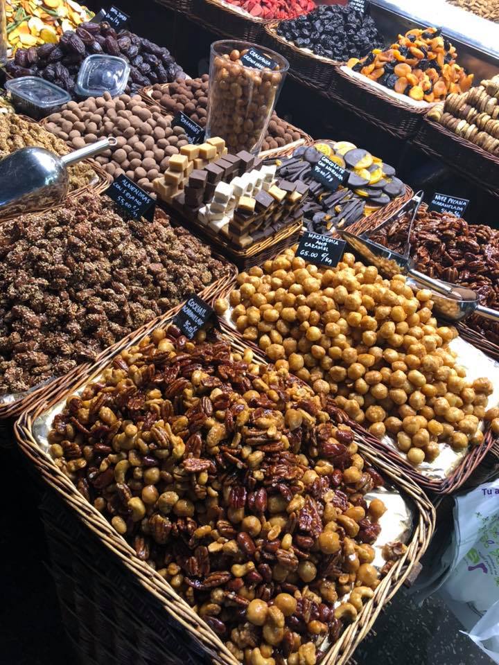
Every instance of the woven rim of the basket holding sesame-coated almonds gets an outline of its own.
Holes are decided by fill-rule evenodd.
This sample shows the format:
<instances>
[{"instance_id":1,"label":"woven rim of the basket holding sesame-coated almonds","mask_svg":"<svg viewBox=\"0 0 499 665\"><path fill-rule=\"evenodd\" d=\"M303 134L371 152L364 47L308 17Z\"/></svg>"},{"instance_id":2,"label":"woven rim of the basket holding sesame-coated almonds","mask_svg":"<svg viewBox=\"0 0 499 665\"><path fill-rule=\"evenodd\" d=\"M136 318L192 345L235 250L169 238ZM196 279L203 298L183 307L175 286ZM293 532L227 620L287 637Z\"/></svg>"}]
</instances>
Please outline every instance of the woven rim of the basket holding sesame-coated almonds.
<instances>
[{"instance_id":1,"label":"woven rim of the basket holding sesame-coated almonds","mask_svg":"<svg viewBox=\"0 0 499 665\"><path fill-rule=\"evenodd\" d=\"M83 195L85 193L87 193L87 190L82 191L80 193L80 195ZM60 206L57 206L57 207L62 207L62 206L64 206L64 204L60 204ZM38 214L38 213L36 213L36 214ZM164 217L168 218L170 224L172 224L172 226L174 226L174 227L182 227L182 224L179 224L176 220L171 219L168 216L168 213L166 213L166 211L161 209L159 206L156 207L156 213L155 214L159 214L161 216L164 215ZM182 228L184 228L184 227L182 227ZM189 233L191 233L189 231L189 229L185 229L185 230L188 231ZM191 233L191 235L192 235L192 233ZM200 240L200 242L202 242L202 240ZM204 243L204 244L206 244L206 243ZM216 251L216 248L212 247L211 245L209 245L209 247L210 247L210 250L211 250L211 256L213 258L216 258L218 261L220 261L224 265L226 265L227 270L228 270L226 276L222 276L222 277L214 280L211 284L204 287L204 289L202 289L197 294L200 298L208 300L209 302L213 302L216 299L216 297L218 296L218 294L220 294L220 292L222 292L222 290L225 290L227 285L233 283L236 280L236 277L238 275L238 269L237 269L236 265L234 265L234 263L231 263L231 261L229 259L227 259L225 256L222 256L221 254L219 254ZM160 314L159 317L155 317L155 319L152 319L152 321L150 321L149 323L150 324L155 323L155 321L158 321L159 319L162 319L166 314L170 314L170 312L175 312L176 313L178 310L180 310L182 308L182 305L184 305L184 303L185 303L185 300L182 301L182 303L179 303L178 305L175 305L174 308L171 308L170 310L168 310L168 312L165 312L165 314ZM139 328L139 330L140 330L140 328ZM100 357L102 357L103 355L105 355L107 353L112 352L112 350L114 348L116 348L116 347L120 346L121 344L123 344L127 339L129 339L130 337L135 335L136 332L137 332L136 330L132 330L132 332L129 332L128 335L123 337L123 339L117 340L111 346L109 346L109 347L103 349L102 351L100 351L98 353L98 356L97 356L95 362L98 362ZM94 364L94 363L92 363L92 362L80 363L75 368L73 368L69 373L62 374L60 376L55 376L55 377L51 378L51 380L49 380L48 383L40 385L40 387L36 387L36 386L33 387L33 389L29 393L27 393L26 395L20 397L19 399L15 400L14 402L10 402L10 404L8 404L8 405L0 405L0 421L3 418L12 418L13 416L18 416L21 413L21 411L24 411L24 410L30 408L30 406L32 404L34 404L40 398L40 395L42 393L44 393L44 391L51 391L52 392L52 391L58 389L58 386L60 384L64 384L64 385L66 384L67 378L69 378L69 380L73 380L74 377L79 376L81 373L84 373L85 371L87 371L89 366L92 366L92 364Z\"/></svg>"}]
</instances>

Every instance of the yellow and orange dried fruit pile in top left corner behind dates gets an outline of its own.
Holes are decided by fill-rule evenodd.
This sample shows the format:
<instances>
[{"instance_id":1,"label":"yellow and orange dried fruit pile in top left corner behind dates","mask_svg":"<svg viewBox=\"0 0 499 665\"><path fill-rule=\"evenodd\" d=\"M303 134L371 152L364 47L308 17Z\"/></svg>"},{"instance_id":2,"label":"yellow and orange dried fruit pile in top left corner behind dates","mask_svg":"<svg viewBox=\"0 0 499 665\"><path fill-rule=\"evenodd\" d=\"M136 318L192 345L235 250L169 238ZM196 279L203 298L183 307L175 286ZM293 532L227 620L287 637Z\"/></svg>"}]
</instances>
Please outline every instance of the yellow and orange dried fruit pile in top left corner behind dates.
<instances>
[{"instance_id":1,"label":"yellow and orange dried fruit pile in top left corner behind dates","mask_svg":"<svg viewBox=\"0 0 499 665\"><path fill-rule=\"evenodd\" d=\"M74 0L6 0L7 36L14 50L56 44L67 30L94 17Z\"/></svg>"}]
</instances>

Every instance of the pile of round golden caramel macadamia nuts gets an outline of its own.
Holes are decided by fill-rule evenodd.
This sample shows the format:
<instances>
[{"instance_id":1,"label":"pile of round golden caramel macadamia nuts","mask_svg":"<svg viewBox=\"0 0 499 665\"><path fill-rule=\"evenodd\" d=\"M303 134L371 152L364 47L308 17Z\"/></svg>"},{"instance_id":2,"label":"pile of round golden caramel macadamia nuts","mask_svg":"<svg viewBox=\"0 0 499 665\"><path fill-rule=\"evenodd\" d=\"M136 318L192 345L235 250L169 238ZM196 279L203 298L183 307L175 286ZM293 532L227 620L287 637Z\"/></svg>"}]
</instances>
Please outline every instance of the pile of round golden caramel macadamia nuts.
<instances>
[{"instance_id":1,"label":"pile of round golden caramel macadamia nuts","mask_svg":"<svg viewBox=\"0 0 499 665\"><path fill-rule=\"evenodd\" d=\"M374 436L392 435L410 463L433 461L439 442L482 443L492 384L466 381L448 346L457 331L439 326L431 292L414 293L404 276L383 279L353 254L320 269L286 249L241 273L229 303L244 339ZM218 301L218 312L229 303Z\"/></svg>"}]
</instances>

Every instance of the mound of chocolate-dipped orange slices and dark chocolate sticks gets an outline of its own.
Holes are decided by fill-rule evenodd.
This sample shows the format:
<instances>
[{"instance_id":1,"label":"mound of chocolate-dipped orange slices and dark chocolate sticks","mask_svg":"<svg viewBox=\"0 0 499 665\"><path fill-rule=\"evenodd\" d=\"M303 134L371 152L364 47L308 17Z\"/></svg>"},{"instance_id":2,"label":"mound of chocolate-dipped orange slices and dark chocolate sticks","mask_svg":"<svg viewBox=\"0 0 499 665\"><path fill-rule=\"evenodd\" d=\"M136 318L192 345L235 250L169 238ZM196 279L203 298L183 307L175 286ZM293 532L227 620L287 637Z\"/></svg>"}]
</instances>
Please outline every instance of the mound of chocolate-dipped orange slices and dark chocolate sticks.
<instances>
[{"instance_id":1,"label":"mound of chocolate-dipped orange slices and dark chocolate sticks","mask_svg":"<svg viewBox=\"0 0 499 665\"><path fill-rule=\"evenodd\" d=\"M313 167L323 155L349 174L344 186L335 192L312 176ZM300 146L292 157L279 159L279 163L279 176L308 184L310 197L303 206L304 224L314 233L329 235L336 229L347 228L405 193L405 185L395 176L393 166L349 141L323 141L310 148Z\"/></svg>"}]
</instances>

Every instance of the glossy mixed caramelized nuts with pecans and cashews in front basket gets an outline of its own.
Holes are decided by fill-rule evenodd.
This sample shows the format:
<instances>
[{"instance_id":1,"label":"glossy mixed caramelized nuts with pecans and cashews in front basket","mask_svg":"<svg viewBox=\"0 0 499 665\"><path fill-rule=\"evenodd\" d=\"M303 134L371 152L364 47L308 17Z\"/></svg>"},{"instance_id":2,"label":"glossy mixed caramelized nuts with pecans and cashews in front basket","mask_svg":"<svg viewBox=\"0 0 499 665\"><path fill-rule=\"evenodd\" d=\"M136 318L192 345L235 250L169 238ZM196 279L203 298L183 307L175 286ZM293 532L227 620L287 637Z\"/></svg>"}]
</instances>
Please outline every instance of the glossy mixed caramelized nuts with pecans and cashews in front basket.
<instances>
[{"instance_id":1,"label":"glossy mixed caramelized nuts with pecans and cashews in front basket","mask_svg":"<svg viewBox=\"0 0 499 665\"><path fill-rule=\"evenodd\" d=\"M340 420L285 368L170 326L69 397L49 443L236 658L313 665L406 550L374 567L383 479Z\"/></svg>"}]
</instances>

